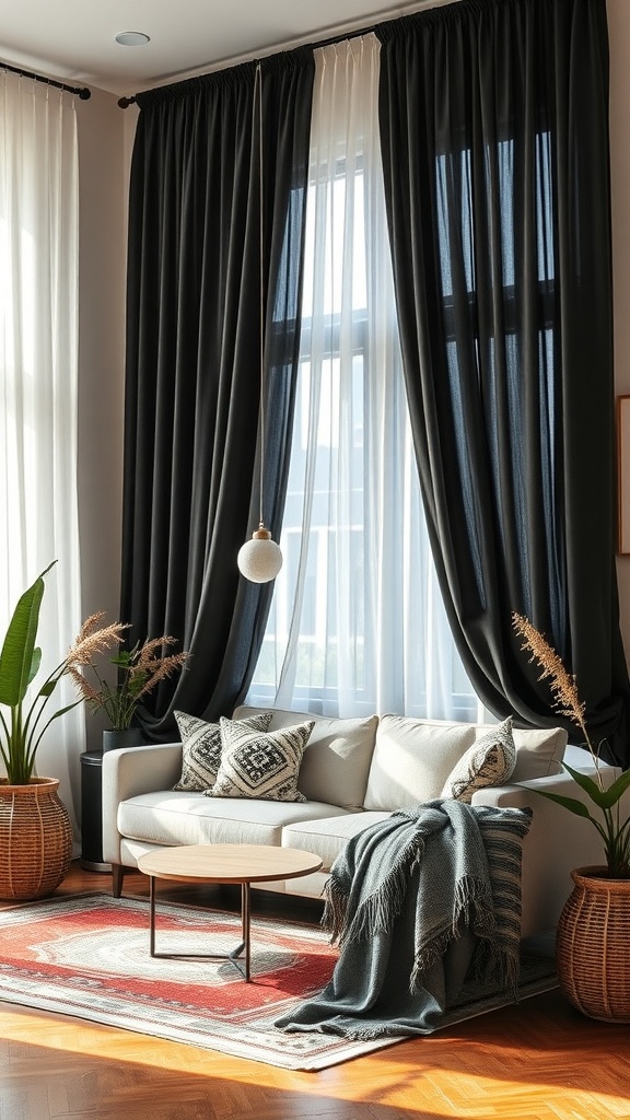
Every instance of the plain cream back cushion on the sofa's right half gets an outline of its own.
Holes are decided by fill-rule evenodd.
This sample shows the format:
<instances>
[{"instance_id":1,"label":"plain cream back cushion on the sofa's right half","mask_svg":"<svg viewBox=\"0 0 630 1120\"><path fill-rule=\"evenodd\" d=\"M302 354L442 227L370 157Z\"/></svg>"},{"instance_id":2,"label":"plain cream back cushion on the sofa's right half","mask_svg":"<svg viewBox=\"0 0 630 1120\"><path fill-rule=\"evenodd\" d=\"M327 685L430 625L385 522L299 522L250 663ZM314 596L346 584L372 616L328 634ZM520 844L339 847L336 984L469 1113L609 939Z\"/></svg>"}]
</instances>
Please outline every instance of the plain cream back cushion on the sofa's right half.
<instances>
[{"instance_id":1,"label":"plain cream back cushion on the sofa's right half","mask_svg":"<svg viewBox=\"0 0 630 1120\"><path fill-rule=\"evenodd\" d=\"M455 763L472 746L472 724L382 716L363 805L409 809L439 797Z\"/></svg>"}]
</instances>

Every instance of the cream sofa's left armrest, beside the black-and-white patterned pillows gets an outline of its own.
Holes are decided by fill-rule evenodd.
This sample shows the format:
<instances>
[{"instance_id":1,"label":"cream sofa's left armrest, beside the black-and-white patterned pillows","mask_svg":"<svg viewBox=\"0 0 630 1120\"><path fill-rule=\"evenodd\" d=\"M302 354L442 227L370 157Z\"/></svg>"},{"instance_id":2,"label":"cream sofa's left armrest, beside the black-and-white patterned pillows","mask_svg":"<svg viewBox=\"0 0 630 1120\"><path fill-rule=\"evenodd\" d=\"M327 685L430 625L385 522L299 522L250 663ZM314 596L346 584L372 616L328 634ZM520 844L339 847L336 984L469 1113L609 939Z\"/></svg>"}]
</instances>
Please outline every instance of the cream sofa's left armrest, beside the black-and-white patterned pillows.
<instances>
[{"instance_id":1,"label":"cream sofa's left armrest, beside the black-and-white patterned pillows","mask_svg":"<svg viewBox=\"0 0 630 1120\"><path fill-rule=\"evenodd\" d=\"M128 797L172 790L182 774L182 744L106 750L102 768L103 861L120 864L118 806Z\"/></svg>"}]
</instances>

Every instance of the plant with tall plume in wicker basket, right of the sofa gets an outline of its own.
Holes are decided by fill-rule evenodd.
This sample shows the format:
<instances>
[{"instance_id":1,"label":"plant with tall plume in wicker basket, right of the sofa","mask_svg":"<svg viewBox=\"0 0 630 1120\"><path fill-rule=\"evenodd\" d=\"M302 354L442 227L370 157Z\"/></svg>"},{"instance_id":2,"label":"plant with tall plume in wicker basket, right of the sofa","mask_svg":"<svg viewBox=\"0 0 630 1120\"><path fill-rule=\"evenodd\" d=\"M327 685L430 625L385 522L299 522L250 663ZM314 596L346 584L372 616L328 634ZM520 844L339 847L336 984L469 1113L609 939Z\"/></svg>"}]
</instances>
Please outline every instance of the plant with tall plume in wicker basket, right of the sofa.
<instances>
[{"instance_id":1,"label":"plant with tall plume in wicker basket, right of the sofa","mask_svg":"<svg viewBox=\"0 0 630 1120\"><path fill-rule=\"evenodd\" d=\"M630 769L608 781L610 772L602 767L599 748L589 735L575 676L529 619L515 613L512 624L522 647L541 669L539 680L549 681L553 708L580 728L595 769L592 777L563 763L586 795L585 801L550 792L540 794L590 821L602 839L604 860L602 866L572 871L573 892L556 933L558 982L584 1015L630 1023L630 812L623 808Z\"/></svg>"}]
</instances>

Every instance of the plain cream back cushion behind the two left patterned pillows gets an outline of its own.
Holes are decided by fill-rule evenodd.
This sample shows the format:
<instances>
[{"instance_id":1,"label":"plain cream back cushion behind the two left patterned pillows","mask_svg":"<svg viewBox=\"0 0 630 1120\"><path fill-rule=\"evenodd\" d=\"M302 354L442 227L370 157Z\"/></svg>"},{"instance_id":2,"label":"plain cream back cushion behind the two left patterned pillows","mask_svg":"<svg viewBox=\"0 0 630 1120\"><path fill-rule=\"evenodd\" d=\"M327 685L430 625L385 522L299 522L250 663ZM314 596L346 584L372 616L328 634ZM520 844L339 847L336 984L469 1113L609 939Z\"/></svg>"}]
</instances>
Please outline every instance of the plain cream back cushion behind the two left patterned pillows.
<instances>
[{"instance_id":1,"label":"plain cream back cushion behind the two left patterned pillows","mask_svg":"<svg viewBox=\"0 0 630 1120\"><path fill-rule=\"evenodd\" d=\"M244 719L263 710L242 706L234 711L234 719ZM378 716L365 719L327 719L275 708L269 729L288 727L300 718L314 720L315 726L302 758L297 780L299 792L307 801L322 801L342 809L361 809L374 749Z\"/></svg>"}]
</instances>

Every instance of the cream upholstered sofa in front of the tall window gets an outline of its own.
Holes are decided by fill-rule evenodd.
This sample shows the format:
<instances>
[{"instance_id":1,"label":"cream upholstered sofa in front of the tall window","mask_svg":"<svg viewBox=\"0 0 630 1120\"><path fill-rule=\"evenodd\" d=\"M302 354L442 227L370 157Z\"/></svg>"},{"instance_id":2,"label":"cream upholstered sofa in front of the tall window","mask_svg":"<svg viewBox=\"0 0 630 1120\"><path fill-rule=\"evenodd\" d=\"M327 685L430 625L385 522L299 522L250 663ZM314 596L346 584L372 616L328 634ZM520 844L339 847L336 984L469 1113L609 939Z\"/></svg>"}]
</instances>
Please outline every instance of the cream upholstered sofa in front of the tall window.
<instances>
[{"instance_id":1,"label":"cream upholstered sofa in front of the tall window","mask_svg":"<svg viewBox=\"0 0 630 1120\"><path fill-rule=\"evenodd\" d=\"M239 708L233 718L260 710ZM103 860L112 867L114 895L121 894L124 869L135 868L139 857L155 848L262 843L299 848L323 859L317 874L262 884L265 889L321 897L349 838L396 809L443 796L456 762L489 730L399 716L331 720L279 710L274 710L269 729L304 719L315 721L299 771L304 802L175 792L182 772L180 743L105 753ZM601 862L601 843L587 821L537 796L540 790L580 796L562 767L566 732L515 729L513 738L517 762L509 784L476 791L473 804L534 810L522 861L522 935L527 936L555 926L572 889L572 868ZM569 749L577 752L572 762L587 772L589 755Z\"/></svg>"}]
</instances>

